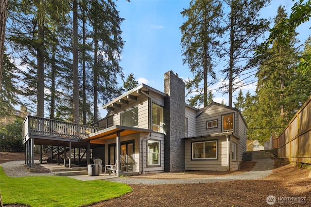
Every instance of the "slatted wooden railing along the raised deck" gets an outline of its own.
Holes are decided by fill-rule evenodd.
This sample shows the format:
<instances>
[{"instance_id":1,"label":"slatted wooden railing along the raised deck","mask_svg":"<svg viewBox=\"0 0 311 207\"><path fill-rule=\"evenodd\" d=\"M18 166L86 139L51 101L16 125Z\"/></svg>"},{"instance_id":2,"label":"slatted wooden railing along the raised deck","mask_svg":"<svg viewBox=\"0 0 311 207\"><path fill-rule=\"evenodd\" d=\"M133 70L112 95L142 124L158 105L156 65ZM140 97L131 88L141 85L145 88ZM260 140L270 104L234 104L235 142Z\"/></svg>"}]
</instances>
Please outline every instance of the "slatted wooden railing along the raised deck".
<instances>
[{"instance_id":1,"label":"slatted wooden railing along the raised deck","mask_svg":"<svg viewBox=\"0 0 311 207\"><path fill-rule=\"evenodd\" d=\"M103 128L27 115L22 129L24 138L30 137L31 134L42 134L81 139Z\"/></svg>"}]
</instances>

